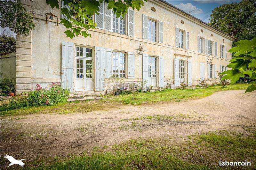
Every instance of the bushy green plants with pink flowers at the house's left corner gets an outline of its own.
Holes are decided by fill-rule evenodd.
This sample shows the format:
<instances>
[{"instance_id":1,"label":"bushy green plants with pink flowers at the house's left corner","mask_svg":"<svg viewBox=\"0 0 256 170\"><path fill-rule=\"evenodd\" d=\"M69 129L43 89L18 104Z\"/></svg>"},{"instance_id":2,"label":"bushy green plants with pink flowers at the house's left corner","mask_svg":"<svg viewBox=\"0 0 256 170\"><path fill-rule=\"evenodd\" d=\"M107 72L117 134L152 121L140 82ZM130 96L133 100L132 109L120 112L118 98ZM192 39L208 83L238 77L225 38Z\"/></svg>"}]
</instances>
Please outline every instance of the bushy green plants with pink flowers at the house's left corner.
<instances>
[{"instance_id":1,"label":"bushy green plants with pink flowers at the house's left corner","mask_svg":"<svg viewBox=\"0 0 256 170\"><path fill-rule=\"evenodd\" d=\"M60 84L49 85L49 90L43 89L39 84L34 91L28 92L28 96L14 97L4 110L18 109L29 106L54 105L68 100L69 91L62 89Z\"/></svg>"}]
</instances>

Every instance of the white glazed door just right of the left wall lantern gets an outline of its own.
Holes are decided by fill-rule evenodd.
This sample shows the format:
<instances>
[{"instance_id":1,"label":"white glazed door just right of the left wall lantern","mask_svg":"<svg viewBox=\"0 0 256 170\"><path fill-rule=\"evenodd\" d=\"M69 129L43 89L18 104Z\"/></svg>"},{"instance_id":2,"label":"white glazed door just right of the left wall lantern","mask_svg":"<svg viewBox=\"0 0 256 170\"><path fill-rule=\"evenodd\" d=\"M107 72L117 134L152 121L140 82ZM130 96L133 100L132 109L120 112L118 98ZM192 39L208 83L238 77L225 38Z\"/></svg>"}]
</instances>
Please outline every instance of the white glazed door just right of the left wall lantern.
<instances>
[{"instance_id":1,"label":"white glazed door just right of the left wall lantern","mask_svg":"<svg viewBox=\"0 0 256 170\"><path fill-rule=\"evenodd\" d=\"M148 85L156 87L156 57L148 56Z\"/></svg>"}]
</instances>

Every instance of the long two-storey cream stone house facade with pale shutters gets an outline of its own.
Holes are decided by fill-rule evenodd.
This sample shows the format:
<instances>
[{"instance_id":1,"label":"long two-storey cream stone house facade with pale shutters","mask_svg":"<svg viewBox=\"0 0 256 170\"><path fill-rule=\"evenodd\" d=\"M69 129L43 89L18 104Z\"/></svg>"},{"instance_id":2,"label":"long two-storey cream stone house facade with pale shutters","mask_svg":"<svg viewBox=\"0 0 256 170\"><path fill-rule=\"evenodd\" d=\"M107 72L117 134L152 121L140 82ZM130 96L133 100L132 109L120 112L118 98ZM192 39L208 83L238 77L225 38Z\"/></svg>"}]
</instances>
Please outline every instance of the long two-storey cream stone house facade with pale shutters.
<instances>
[{"instance_id":1,"label":"long two-storey cream stone house facade with pale shutters","mask_svg":"<svg viewBox=\"0 0 256 170\"><path fill-rule=\"evenodd\" d=\"M73 39L55 17L46 23L44 13L65 17L60 10L45 1L22 3L33 12L36 27L17 35L16 95L51 82L75 93L104 93L112 76L162 88L167 82L178 87L202 79L211 84L219 81L216 71L227 70L232 57L227 52L232 37L162 0L148 0L140 11L129 9L123 19L103 3L93 16L98 28L89 30L92 38Z\"/></svg>"}]
</instances>

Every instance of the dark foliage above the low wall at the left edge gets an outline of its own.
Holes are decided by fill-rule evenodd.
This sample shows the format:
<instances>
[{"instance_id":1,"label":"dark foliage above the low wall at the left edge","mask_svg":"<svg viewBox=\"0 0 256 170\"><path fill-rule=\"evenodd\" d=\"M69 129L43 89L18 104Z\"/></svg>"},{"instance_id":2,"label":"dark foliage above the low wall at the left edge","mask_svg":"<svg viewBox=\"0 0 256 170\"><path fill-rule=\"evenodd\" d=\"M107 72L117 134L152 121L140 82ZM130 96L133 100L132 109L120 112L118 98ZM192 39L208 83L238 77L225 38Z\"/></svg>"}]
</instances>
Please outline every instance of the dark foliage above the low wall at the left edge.
<instances>
[{"instance_id":1,"label":"dark foliage above the low wall at the left edge","mask_svg":"<svg viewBox=\"0 0 256 170\"><path fill-rule=\"evenodd\" d=\"M0 55L16 51L16 39L7 35L0 36Z\"/></svg>"}]
</instances>

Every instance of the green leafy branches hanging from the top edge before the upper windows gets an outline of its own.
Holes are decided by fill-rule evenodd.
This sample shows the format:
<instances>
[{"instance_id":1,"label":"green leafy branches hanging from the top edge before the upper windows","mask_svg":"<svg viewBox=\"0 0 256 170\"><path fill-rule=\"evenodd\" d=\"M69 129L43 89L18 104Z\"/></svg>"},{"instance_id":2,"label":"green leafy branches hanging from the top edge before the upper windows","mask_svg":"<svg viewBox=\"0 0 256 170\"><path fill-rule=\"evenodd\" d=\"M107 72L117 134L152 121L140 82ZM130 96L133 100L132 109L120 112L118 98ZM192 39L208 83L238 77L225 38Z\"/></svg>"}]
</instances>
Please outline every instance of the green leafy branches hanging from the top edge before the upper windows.
<instances>
[{"instance_id":1,"label":"green leafy branches hanging from the top edge before the upper windows","mask_svg":"<svg viewBox=\"0 0 256 170\"><path fill-rule=\"evenodd\" d=\"M63 24L67 30L64 32L67 37L71 39L74 36L82 35L84 37L90 36L88 29L95 29L97 24L91 19L93 14L99 14L99 6L105 1L108 3L108 9L113 9L116 17L124 17L129 7L132 9L140 10L144 5L144 1L147 0L63 0L64 5L68 5L68 8L61 8L61 14L66 15L68 19L60 18L61 24ZM60 0L46 0L46 4L53 8L60 8ZM88 22L84 22L86 19Z\"/></svg>"}]
</instances>

